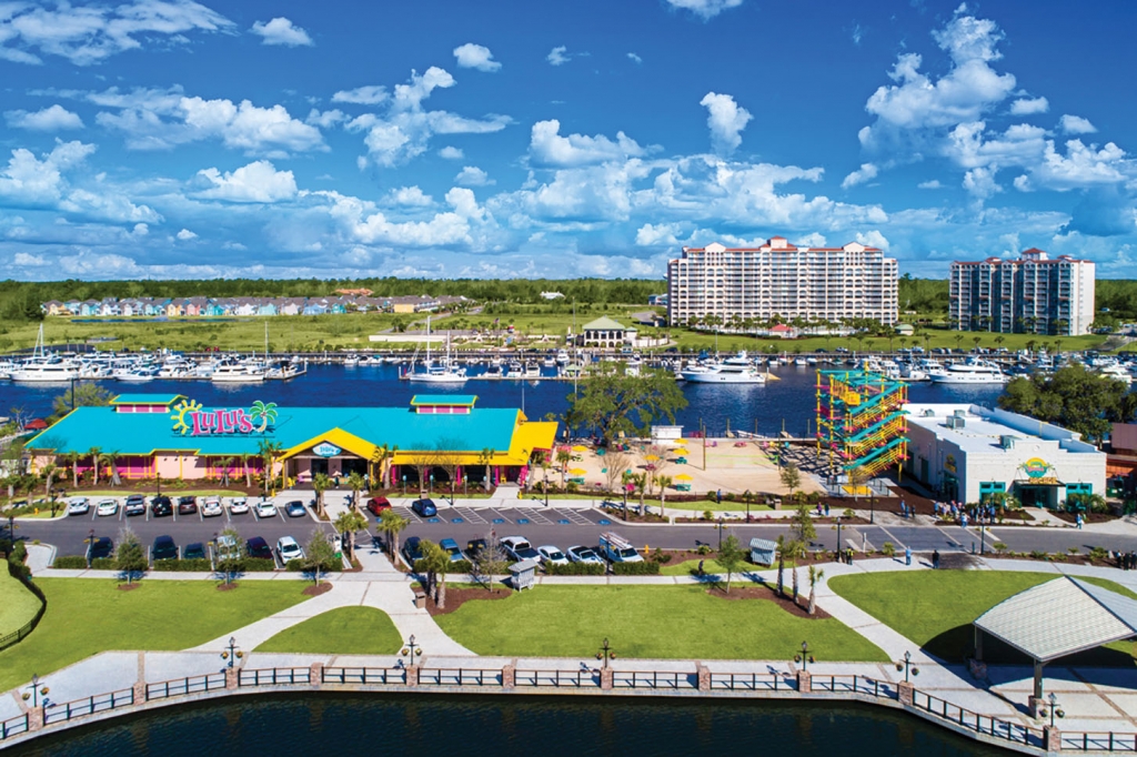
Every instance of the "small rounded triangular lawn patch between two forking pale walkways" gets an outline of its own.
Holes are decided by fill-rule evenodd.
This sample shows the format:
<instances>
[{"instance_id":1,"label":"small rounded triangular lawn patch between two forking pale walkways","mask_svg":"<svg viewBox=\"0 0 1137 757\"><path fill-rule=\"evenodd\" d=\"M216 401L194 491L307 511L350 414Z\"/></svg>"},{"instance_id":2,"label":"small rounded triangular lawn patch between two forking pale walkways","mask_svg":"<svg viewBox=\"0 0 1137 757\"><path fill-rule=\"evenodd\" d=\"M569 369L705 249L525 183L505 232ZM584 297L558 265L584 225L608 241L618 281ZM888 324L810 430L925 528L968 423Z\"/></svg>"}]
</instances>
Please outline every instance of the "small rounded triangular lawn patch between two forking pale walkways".
<instances>
[{"instance_id":1,"label":"small rounded triangular lawn patch between two forking pale walkways","mask_svg":"<svg viewBox=\"0 0 1137 757\"><path fill-rule=\"evenodd\" d=\"M391 618L375 607L338 607L257 647L257 651L314 655L393 655L402 646Z\"/></svg>"}]
</instances>

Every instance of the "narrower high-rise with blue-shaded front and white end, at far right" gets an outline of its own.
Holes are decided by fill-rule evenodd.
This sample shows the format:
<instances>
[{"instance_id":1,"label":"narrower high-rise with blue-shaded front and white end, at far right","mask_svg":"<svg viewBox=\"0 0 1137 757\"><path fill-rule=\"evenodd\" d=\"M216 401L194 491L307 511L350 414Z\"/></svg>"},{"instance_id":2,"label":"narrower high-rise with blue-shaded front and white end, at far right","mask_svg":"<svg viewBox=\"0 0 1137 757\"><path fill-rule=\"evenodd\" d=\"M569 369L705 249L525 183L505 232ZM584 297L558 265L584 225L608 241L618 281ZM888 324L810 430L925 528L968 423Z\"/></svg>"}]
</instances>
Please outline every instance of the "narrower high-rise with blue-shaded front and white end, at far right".
<instances>
[{"instance_id":1,"label":"narrower high-rise with blue-shaded front and white end, at far right","mask_svg":"<svg viewBox=\"0 0 1137 757\"><path fill-rule=\"evenodd\" d=\"M1088 334L1094 323L1094 264L1051 260L1031 248L1018 260L953 263L948 319L961 331Z\"/></svg>"}]
</instances>

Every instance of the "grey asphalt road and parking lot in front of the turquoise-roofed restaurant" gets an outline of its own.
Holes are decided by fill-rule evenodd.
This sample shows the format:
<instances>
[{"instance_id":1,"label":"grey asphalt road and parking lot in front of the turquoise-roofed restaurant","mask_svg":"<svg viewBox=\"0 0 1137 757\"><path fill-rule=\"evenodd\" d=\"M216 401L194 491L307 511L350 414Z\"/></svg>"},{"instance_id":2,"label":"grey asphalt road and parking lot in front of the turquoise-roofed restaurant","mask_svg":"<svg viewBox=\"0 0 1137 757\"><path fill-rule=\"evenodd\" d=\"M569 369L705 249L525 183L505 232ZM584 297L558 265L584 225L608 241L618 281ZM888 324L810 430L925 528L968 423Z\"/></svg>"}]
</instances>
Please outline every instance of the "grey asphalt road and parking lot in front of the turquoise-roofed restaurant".
<instances>
[{"instance_id":1,"label":"grey asphalt road and parking lot in front of the turquoise-roofed restaurant","mask_svg":"<svg viewBox=\"0 0 1137 757\"><path fill-rule=\"evenodd\" d=\"M442 505L442 500L435 500ZM288 517L282 508L272 518L259 518L254 511L243 515L232 515L227 502L225 514L218 517L204 518L200 513L184 516L176 513L168 517L155 518L149 515L125 517L119 508L117 516L99 517L91 513L83 516L69 516L58 521L24 521L17 524L16 535L20 539L39 539L55 544L60 555L82 555L85 551L85 540L91 531L96 536L109 536L118 541L118 533L128 525L144 544L152 543L161 534L174 538L179 547L192 542L205 542L227 527L236 529L243 539L262 536L269 544L283 535L296 538L301 544L307 542L314 529L332 531L329 524L315 519L309 510L304 517ZM277 505L283 505L279 501ZM176 509L176 508L175 508ZM533 507L514 508L450 508L441 506L437 517L421 518L408 508L396 508L410 521L402 538L410 535L438 541L451 538L465 546L466 541L485 536L490 530L498 536L522 535L534 546L555 544L566 549L573 544L595 547L599 535L605 531L616 531L637 547L663 547L667 549L695 549L700 543L716 547L720 530L712 524L683 525L636 525L622 523L617 515L599 510L575 510L546 508L537 504ZM375 518L368 513L374 533ZM744 524L728 522L722 534L733 533L739 541L747 544L752 538L775 540L780 534L788 533L783 524ZM944 551L979 551L979 530L960 526L882 526L861 525L843 526L841 542L862 547L865 542L870 548L880 549L888 541L903 549L912 547L916 552L930 552L933 549ZM1137 549L1137 538L1122 535L1095 534L1090 531L1074 529L1039 529L1023 526L995 526L986 530L984 542L986 550L990 544L1002 541L1013 551L1043 550L1048 552L1065 551L1077 547L1087 552L1092 547L1106 549ZM837 547L837 530L829 524L819 524L818 538L813 541L814 549L835 549Z\"/></svg>"}]
</instances>

